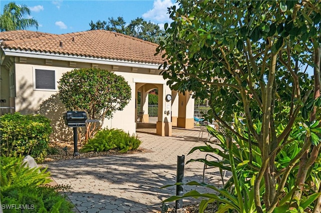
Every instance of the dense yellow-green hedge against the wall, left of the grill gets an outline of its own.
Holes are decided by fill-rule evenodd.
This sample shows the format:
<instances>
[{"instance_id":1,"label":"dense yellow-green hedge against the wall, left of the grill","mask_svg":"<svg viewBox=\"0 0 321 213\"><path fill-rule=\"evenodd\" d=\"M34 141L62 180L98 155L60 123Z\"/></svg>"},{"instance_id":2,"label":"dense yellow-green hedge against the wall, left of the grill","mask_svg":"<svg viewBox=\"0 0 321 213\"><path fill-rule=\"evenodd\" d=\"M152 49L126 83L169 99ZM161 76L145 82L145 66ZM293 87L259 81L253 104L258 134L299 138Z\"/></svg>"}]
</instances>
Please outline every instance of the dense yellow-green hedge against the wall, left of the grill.
<instances>
[{"instance_id":1,"label":"dense yellow-green hedge against the wall, left of the grill","mask_svg":"<svg viewBox=\"0 0 321 213\"><path fill-rule=\"evenodd\" d=\"M20 113L1 116L1 152L5 156L31 155L36 161L46 156L50 120L43 115Z\"/></svg>"}]
</instances>

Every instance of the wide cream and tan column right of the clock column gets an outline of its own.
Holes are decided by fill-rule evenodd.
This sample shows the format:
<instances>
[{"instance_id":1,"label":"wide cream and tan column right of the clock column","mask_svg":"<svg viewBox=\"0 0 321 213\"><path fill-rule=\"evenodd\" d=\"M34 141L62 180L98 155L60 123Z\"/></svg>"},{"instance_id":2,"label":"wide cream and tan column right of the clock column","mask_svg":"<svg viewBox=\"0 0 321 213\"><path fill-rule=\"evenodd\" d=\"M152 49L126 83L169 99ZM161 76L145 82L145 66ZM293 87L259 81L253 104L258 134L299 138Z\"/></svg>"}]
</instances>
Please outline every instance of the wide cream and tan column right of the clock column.
<instances>
[{"instance_id":1,"label":"wide cream and tan column right of the clock column","mask_svg":"<svg viewBox=\"0 0 321 213\"><path fill-rule=\"evenodd\" d=\"M190 92L179 93L179 116L177 118L177 127L194 128L194 98Z\"/></svg>"}]
</instances>

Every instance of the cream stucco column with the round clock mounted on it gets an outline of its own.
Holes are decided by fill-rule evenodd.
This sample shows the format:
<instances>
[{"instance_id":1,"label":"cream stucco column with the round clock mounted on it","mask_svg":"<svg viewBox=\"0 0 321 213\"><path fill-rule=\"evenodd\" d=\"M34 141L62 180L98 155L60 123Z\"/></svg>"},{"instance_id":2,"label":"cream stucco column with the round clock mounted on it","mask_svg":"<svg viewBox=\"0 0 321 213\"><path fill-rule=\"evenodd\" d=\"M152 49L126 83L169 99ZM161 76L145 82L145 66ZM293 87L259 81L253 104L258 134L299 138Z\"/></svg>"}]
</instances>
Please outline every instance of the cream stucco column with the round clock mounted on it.
<instances>
[{"instance_id":1,"label":"cream stucco column with the round clock mounted on it","mask_svg":"<svg viewBox=\"0 0 321 213\"><path fill-rule=\"evenodd\" d=\"M171 94L171 89L161 84L158 86L158 121L156 122L156 134L172 136L171 111L172 102L166 101L165 96Z\"/></svg>"}]
</instances>

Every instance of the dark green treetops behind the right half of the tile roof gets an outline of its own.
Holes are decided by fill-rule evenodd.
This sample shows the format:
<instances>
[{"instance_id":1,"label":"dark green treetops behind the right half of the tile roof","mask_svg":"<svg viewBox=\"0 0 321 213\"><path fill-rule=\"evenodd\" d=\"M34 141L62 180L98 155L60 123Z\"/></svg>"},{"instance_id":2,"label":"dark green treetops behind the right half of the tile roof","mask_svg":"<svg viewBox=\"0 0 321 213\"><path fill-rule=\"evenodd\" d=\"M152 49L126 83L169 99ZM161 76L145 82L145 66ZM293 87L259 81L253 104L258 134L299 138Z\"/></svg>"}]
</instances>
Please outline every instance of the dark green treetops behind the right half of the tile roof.
<instances>
[{"instance_id":1,"label":"dark green treetops behind the right half of the tile roof","mask_svg":"<svg viewBox=\"0 0 321 213\"><path fill-rule=\"evenodd\" d=\"M149 41L152 43L159 43L164 39L165 32L161 28L151 22L146 22L142 18L132 20L128 25L122 17L117 19L108 18L106 21L98 20L96 23L91 21L89 23L90 30L107 30L116 33L122 33L138 39Z\"/></svg>"}]
</instances>

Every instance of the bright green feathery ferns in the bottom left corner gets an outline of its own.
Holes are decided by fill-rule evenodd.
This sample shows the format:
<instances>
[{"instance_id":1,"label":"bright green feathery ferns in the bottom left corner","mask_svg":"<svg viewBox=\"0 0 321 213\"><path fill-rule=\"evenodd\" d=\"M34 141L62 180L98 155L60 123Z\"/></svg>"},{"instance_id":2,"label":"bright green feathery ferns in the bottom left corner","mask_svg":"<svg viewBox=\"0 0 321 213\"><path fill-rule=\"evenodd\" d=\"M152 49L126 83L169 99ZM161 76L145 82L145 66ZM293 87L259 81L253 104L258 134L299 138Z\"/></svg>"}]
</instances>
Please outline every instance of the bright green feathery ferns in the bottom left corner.
<instances>
[{"instance_id":1,"label":"bright green feathery ferns in the bottom left corner","mask_svg":"<svg viewBox=\"0 0 321 213\"><path fill-rule=\"evenodd\" d=\"M57 189L48 186L50 173L46 169L28 168L22 158L1 157L1 202L3 205L21 204L29 207L24 212L72 212L73 205ZM26 193L28 192L28 193ZM5 212L21 212L6 209Z\"/></svg>"}]
</instances>

